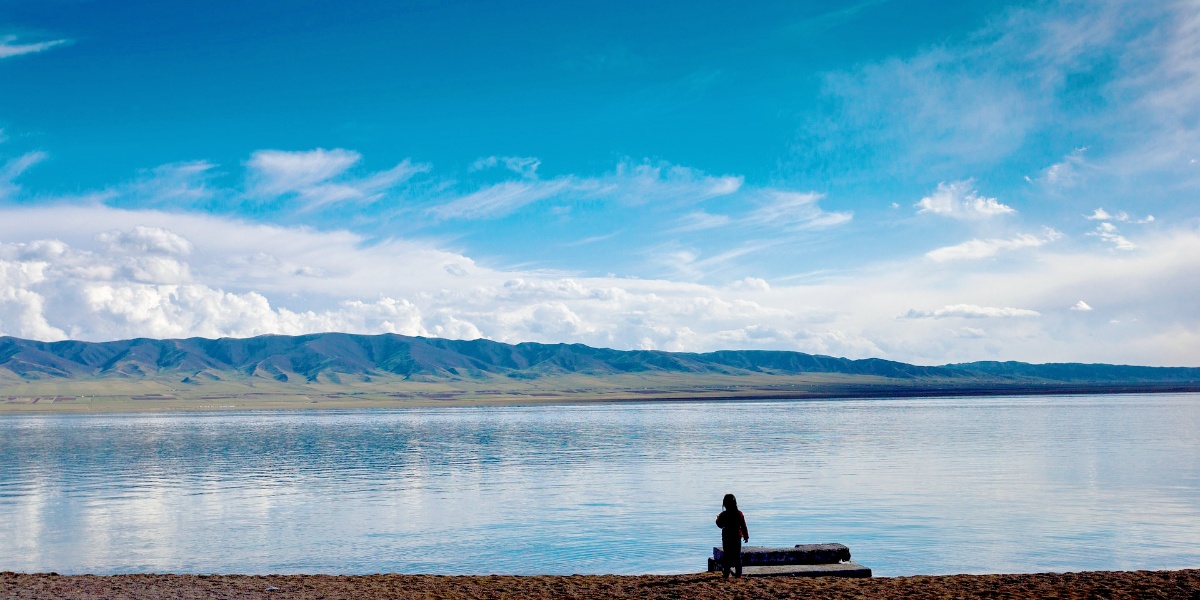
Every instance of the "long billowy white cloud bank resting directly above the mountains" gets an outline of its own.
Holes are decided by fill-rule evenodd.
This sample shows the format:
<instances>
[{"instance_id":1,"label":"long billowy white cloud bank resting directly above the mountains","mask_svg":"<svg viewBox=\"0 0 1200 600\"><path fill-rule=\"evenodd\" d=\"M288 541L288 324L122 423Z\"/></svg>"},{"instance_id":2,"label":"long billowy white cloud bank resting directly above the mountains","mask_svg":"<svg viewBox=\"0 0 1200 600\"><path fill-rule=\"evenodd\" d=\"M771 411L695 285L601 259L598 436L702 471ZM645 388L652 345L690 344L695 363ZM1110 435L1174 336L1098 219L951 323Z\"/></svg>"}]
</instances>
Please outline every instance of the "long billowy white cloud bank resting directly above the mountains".
<instances>
[{"instance_id":1,"label":"long billowy white cloud bank resting directly above the mountains","mask_svg":"<svg viewBox=\"0 0 1200 600\"><path fill-rule=\"evenodd\" d=\"M1200 364L1200 232L1187 228L1120 257L1048 245L1019 268L895 259L770 286L497 270L427 242L104 206L0 209L0 332L42 340L340 330L919 364ZM1120 330L1097 337L1067 311L1031 308L1091 295ZM962 301L974 298L988 301ZM947 334L946 319L984 318L985 334Z\"/></svg>"}]
</instances>

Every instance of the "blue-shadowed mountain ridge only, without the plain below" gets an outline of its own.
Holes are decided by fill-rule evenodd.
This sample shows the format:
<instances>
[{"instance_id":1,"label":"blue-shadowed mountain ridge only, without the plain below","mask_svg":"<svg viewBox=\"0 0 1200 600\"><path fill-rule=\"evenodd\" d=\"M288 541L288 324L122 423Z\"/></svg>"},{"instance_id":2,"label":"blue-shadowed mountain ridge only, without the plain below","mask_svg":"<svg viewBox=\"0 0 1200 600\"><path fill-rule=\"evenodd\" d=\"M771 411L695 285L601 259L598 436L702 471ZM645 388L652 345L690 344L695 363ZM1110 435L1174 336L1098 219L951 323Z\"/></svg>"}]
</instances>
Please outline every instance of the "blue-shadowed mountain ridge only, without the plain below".
<instances>
[{"instance_id":1,"label":"blue-shadowed mountain ridge only, without the plain below","mask_svg":"<svg viewBox=\"0 0 1200 600\"><path fill-rule=\"evenodd\" d=\"M785 350L672 353L614 350L583 344L506 344L395 334L264 335L248 338L37 342L0 337L0 379L178 378L220 379L222 373L280 382L338 383L341 378L436 380L503 376L618 373L804 374L840 373L892 379L1004 382L1200 383L1196 367L1026 362L917 366L882 359L851 360Z\"/></svg>"}]
</instances>

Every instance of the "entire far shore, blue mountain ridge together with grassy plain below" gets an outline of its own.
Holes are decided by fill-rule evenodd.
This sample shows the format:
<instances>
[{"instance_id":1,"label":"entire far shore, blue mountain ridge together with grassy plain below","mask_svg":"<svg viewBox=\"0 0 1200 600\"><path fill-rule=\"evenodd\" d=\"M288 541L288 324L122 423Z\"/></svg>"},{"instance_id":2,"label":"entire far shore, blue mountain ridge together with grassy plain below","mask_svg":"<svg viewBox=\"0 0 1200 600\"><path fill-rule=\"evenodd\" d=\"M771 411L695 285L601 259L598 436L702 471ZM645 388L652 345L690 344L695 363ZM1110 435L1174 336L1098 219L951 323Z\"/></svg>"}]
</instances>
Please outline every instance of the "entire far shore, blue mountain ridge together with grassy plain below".
<instances>
[{"instance_id":1,"label":"entire far shore, blue mountain ridge together with grassy plain below","mask_svg":"<svg viewBox=\"0 0 1200 600\"><path fill-rule=\"evenodd\" d=\"M1200 367L323 332L38 342L0 336L0 414L1200 391Z\"/></svg>"}]
</instances>

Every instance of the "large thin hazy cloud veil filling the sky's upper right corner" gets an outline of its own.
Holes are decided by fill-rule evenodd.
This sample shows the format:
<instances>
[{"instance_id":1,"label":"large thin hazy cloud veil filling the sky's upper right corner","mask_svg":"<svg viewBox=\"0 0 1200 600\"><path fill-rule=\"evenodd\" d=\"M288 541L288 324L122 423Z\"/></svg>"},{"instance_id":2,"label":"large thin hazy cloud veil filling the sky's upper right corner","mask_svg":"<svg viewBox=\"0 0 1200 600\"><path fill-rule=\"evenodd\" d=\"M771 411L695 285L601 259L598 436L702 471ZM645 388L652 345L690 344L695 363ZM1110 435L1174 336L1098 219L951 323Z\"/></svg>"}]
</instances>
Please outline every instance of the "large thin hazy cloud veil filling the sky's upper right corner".
<instances>
[{"instance_id":1,"label":"large thin hazy cloud veil filling the sky's upper right corner","mask_svg":"<svg viewBox=\"0 0 1200 600\"><path fill-rule=\"evenodd\" d=\"M805 128L797 162L946 176L1020 164L1068 134L1088 142L1087 158L1081 149L1030 178L1042 191L1193 188L1200 174L1180 167L1200 144L1198 14L1188 1L1009 7L961 42L827 76L829 108Z\"/></svg>"}]
</instances>

